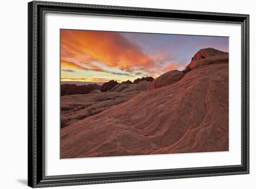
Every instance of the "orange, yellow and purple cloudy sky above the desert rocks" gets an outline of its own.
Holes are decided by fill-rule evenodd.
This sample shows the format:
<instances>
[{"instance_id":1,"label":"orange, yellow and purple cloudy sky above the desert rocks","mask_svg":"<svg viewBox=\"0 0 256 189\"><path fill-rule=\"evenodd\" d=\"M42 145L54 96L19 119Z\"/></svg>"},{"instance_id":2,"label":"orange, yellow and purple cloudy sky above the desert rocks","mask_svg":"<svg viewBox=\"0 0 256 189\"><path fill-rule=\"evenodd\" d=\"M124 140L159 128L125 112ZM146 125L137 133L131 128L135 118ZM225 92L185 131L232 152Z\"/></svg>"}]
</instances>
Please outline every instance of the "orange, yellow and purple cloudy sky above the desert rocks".
<instances>
[{"instance_id":1,"label":"orange, yellow and purple cloudy sky above the desert rocks","mask_svg":"<svg viewBox=\"0 0 256 189\"><path fill-rule=\"evenodd\" d=\"M61 81L157 78L208 47L229 52L229 38L61 29Z\"/></svg>"}]
</instances>

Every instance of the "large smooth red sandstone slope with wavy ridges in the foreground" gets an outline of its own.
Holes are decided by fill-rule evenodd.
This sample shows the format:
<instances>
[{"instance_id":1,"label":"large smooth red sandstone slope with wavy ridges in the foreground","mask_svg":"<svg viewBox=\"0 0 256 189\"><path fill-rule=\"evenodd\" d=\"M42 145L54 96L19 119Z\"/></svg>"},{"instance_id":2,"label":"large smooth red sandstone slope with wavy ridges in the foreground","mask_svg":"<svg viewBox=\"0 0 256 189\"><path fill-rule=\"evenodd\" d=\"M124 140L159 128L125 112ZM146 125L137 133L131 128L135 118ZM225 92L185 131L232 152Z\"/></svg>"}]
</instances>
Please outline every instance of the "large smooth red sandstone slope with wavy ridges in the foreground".
<instances>
[{"instance_id":1,"label":"large smooth red sandstone slope with wavy ridges in the foreground","mask_svg":"<svg viewBox=\"0 0 256 189\"><path fill-rule=\"evenodd\" d=\"M200 66L70 124L61 129L61 158L227 151L228 80L228 64Z\"/></svg>"}]
</instances>

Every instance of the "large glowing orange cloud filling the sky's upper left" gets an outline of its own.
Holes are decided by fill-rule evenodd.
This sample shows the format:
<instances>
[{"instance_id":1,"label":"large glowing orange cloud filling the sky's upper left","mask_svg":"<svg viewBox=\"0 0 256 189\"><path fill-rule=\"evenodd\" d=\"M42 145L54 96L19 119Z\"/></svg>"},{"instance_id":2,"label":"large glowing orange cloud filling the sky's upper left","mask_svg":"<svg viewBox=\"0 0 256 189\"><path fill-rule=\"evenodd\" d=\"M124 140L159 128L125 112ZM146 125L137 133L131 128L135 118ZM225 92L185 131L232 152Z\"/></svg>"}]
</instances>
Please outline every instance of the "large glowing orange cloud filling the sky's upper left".
<instances>
[{"instance_id":1,"label":"large glowing orange cloud filling the sky's upper left","mask_svg":"<svg viewBox=\"0 0 256 189\"><path fill-rule=\"evenodd\" d=\"M71 59L77 61L74 64L98 61L120 69L154 65L154 61L138 46L119 33L61 30L61 62L70 62Z\"/></svg>"}]
</instances>

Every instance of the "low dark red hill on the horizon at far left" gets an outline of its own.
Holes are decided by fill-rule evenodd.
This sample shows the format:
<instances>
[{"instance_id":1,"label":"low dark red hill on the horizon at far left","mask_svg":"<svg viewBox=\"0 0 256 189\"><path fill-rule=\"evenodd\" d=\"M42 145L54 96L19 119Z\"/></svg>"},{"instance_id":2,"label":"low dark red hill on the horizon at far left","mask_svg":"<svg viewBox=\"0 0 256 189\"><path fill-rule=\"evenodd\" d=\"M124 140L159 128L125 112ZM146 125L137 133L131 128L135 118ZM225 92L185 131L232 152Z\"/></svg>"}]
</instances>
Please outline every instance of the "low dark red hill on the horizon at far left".
<instances>
[{"instance_id":1,"label":"low dark red hill on the horizon at far left","mask_svg":"<svg viewBox=\"0 0 256 189\"><path fill-rule=\"evenodd\" d=\"M61 85L61 96L74 95L74 94L88 94L91 91L96 89L101 89L101 86L97 84L89 84L89 85L64 84L64 85Z\"/></svg>"}]
</instances>

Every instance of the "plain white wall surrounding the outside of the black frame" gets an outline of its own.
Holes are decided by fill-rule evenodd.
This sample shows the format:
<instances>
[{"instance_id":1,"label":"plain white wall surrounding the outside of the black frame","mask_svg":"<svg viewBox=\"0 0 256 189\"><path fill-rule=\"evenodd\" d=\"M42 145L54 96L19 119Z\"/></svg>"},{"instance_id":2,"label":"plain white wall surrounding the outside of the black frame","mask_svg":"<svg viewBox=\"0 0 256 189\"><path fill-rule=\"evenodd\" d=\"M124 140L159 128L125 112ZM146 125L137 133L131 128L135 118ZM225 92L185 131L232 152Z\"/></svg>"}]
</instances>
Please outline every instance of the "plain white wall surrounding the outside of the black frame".
<instances>
[{"instance_id":1,"label":"plain white wall surrounding the outside of the black frame","mask_svg":"<svg viewBox=\"0 0 256 189\"><path fill-rule=\"evenodd\" d=\"M256 187L256 12L250 0L61 0L62 2L250 14L250 174L73 186L81 189ZM1 2L0 188L27 187L27 0ZM67 188L67 187L65 187Z\"/></svg>"}]
</instances>

